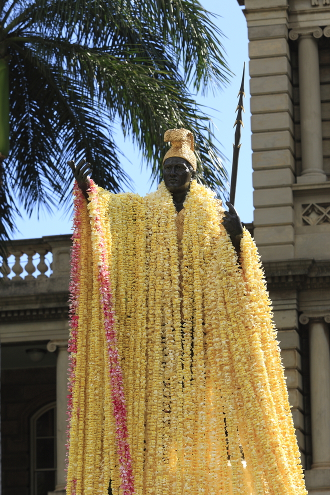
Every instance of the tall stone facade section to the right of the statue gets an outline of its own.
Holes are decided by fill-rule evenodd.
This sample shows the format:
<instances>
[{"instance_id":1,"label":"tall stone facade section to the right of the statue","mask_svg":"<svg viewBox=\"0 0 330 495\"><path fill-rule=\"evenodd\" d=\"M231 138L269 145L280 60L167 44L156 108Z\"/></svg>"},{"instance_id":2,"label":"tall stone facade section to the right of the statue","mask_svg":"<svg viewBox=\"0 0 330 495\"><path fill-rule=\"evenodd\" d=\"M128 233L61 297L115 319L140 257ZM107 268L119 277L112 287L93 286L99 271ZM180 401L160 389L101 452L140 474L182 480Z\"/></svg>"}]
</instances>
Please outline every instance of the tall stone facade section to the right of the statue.
<instances>
[{"instance_id":1,"label":"tall stone facade section to the right of the statue","mask_svg":"<svg viewBox=\"0 0 330 495\"><path fill-rule=\"evenodd\" d=\"M239 0L254 239L312 495L330 494L330 0Z\"/></svg>"}]
</instances>

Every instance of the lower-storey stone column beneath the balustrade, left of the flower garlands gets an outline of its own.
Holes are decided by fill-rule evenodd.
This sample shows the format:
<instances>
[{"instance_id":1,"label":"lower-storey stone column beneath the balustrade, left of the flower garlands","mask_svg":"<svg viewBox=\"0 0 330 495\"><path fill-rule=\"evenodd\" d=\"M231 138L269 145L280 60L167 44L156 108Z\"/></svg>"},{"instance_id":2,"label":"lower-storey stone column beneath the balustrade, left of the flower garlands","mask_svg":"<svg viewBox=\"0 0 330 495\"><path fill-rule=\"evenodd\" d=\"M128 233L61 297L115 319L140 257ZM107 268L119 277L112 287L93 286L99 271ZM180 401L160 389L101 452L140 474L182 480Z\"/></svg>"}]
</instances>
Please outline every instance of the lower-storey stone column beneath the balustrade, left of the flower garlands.
<instances>
[{"instance_id":1,"label":"lower-storey stone column beneath the balustrade, left of the flower garlands","mask_svg":"<svg viewBox=\"0 0 330 495\"><path fill-rule=\"evenodd\" d=\"M58 349L56 362L56 486L55 491L49 491L48 495L65 495L67 340L49 340L47 350L54 352L56 348Z\"/></svg>"}]
</instances>

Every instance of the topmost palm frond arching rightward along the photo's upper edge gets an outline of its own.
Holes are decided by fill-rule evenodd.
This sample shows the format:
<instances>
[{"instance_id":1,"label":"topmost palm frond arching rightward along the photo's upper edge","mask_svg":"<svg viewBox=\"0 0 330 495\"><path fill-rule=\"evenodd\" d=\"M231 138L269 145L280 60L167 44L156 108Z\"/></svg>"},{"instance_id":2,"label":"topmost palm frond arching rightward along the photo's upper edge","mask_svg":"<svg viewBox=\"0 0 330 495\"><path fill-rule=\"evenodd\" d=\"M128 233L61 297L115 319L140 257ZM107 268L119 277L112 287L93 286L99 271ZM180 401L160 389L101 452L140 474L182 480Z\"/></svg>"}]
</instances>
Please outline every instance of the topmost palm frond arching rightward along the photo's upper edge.
<instances>
[{"instance_id":1,"label":"topmost palm frond arching rightward along the photo's upper edge","mask_svg":"<svg viewBox=\"0 0 330 495\"><path fill-rule=\"evenodd\" d=\"M162 46L196 90L228 80L222 33L197 0L27 0L23 5L12 30L23 22L43 37L60 36L90 47L129 46L156 55Z\"/></svg>"}]
</instances>

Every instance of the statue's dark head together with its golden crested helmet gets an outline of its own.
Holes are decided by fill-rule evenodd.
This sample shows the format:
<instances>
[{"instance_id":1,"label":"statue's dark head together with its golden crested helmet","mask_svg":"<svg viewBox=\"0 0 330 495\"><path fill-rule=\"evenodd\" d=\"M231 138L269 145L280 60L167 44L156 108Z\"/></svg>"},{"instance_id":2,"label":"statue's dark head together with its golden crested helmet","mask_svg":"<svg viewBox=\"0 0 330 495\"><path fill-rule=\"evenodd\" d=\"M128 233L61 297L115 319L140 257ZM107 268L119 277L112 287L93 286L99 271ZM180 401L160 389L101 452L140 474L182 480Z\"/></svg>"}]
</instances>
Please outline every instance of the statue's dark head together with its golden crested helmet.
<instances>
[{"instance_id":1,"label":"statue's dark head together with its golden crested helmet","mask_svg":"<svg viewBox=\"0 0 330 495\"><path fill-rule=\"evenodd\" d=\"M187 129L168 129L164 141L171 143L162 163L165 186L170 192L184 192L196 171L193 135Z\"/></svg>"}]
</instances>

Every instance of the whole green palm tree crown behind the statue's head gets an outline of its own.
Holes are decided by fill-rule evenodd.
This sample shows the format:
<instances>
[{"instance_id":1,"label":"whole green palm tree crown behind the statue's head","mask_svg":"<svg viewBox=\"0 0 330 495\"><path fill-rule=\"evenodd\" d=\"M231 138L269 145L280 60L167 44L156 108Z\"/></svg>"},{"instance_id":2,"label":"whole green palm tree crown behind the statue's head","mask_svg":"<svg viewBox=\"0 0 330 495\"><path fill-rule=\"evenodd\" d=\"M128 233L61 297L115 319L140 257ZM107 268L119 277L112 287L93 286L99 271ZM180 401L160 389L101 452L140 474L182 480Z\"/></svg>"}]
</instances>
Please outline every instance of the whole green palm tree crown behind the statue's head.
<instances>
[{"instance_id":1,"label":"whole green palm tree crown behind the statue's head","mask_svg":"<svg viewBox=\"0 0 330 495\"><path fill-rule=\"evenodd\" d=\"M221 32L197 0L0 5L0 239L14 228L18 205L29 213L67 197L67 159L86 157L99 185L121 190L129 177L115 121L153 178L161 174L163 131L190 128L198 180L224 190L210 119L189 88L221 86L229 70Z\"/></svg>"}]
</instances>

